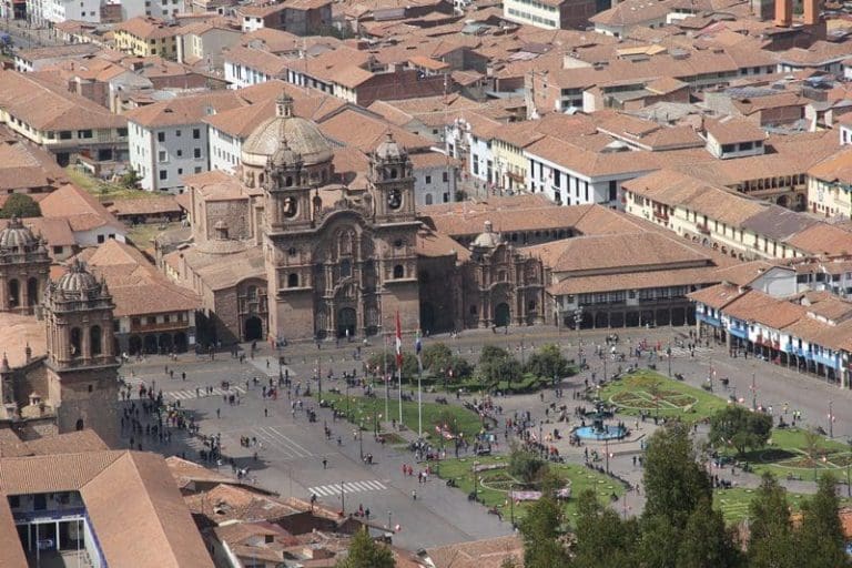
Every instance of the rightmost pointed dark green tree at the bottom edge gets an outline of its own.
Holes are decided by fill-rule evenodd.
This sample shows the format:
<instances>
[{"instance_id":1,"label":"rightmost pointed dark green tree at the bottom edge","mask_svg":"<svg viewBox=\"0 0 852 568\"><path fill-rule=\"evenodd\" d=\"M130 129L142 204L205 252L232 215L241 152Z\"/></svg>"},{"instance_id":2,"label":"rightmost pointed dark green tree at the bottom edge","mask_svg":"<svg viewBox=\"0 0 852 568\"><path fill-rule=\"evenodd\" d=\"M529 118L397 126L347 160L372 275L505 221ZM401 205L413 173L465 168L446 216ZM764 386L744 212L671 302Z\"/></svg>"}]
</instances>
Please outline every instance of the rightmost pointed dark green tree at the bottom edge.
<instances>
[{"instance_id":1,"label":"rightmost pointed dark green tree at the bottom edge","mask_svg":"<svg viewBox=\"0 0 852 568\"><path fill-rule=\"evenodd\" d=\"M795 538L801 568L850 566L834 484L834 476L823 475L818 481L816 494L802 504L802 524Z\"/></svg>"}]
</instances>

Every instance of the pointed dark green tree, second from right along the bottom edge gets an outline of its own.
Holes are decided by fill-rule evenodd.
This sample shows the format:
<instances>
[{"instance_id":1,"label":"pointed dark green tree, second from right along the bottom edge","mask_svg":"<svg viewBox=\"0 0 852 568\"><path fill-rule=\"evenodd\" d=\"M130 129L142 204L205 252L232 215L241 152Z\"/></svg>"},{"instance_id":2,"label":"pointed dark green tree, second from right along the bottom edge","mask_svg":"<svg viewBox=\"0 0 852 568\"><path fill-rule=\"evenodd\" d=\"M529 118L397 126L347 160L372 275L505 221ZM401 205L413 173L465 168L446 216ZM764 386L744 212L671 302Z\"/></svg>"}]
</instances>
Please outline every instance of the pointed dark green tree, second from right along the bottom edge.
<instances>
[{"instance_id":1,"label":"pointed dark green tree, second from right along the bottom edge","mask_svg":"<svg viewBox=\"0 0 852 568\"><path fill-rule=\"evenodd\" d=\"M760 487L749 504L750 568L794 568L795 545L787 490L772 474L763 474ZM825 565L826 566L826 565Z\"/></svg>"}]
</instances>

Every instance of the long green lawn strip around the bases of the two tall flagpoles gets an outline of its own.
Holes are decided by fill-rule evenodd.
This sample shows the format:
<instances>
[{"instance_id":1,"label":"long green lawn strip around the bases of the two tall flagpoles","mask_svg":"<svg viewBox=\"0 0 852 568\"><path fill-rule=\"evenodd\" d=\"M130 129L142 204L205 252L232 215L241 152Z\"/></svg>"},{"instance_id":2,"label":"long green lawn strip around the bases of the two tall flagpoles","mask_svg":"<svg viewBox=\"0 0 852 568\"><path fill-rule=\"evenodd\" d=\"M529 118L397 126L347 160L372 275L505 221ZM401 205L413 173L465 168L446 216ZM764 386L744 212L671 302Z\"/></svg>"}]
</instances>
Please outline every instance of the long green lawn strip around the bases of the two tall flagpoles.
<instances>
[{"instance_id":1,"label":"long green lawn strip around the bases of the two tall flagpoles","mask_svg":"<svg viewBox=\"0 0 852 568\"><path fill-rule=\"evenodd\" d=\"M323 398L331 400L336 408L348 412L351 422L364 422L364 428L372 429L376 416L378 420L390 422L399 419L399 402L397 393L390 393L389 410L390 416L385 414L385 399L383 396L376 398L365 398L363 396L349 396L348 407L346 405L346 395L337 395L323 392ZM348 410L347 410L348 408ZM417 403L403 402L403 424L412 430L417 432ZM460 432L465 438L473 439L476 434L483 429L479 416L466 408L455 405L440 405L435 403L423 403L423 434L424 437L435 438L437 433L435 426L449 425L454 432Z\"/></svg>"}]
</instances>

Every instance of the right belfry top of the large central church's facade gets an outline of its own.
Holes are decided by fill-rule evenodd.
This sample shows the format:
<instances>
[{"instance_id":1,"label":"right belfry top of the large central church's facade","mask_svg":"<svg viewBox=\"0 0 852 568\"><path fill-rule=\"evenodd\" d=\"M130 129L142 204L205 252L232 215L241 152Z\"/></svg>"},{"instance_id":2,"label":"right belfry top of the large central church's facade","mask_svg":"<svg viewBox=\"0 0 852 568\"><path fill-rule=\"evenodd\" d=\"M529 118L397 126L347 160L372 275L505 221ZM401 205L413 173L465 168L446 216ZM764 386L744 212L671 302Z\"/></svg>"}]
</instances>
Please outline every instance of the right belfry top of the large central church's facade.
<instances>
[{"instance_id":1,"label":"right belfry top of the large central church's facade","mask_svg":"<svg viewBox=\"0 0 852 568\"><path fill-rule=\"evenodd\" d=\"M377 221L414 220L414 166L390 132L369 156L367 180Z\"/></svg>"}]
</instances>

